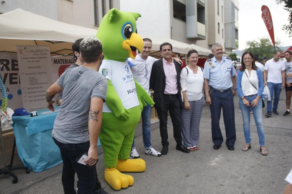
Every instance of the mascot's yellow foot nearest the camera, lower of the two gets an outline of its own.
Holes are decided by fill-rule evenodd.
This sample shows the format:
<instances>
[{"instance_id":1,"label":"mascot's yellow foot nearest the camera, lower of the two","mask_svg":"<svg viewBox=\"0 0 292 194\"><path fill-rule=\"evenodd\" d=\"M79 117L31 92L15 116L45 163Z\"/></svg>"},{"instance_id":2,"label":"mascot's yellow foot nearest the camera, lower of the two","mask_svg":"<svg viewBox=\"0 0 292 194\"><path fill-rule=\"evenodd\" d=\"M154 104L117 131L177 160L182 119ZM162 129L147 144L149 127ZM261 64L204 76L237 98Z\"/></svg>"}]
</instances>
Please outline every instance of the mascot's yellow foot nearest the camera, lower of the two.
<instances>
[{"instance_id":1,"label":"mascot's yellow foot nearest the camera, lower of the two","mask_svg":"<svg viewBox=\"0 0 292 194\"><path fill-rule=\"evenodd\" d=\"M125 175L116 168L105 169L105 181L116 191L126 189L134 184L134 178L130 175Z\"/></svg>"}]
</instances>

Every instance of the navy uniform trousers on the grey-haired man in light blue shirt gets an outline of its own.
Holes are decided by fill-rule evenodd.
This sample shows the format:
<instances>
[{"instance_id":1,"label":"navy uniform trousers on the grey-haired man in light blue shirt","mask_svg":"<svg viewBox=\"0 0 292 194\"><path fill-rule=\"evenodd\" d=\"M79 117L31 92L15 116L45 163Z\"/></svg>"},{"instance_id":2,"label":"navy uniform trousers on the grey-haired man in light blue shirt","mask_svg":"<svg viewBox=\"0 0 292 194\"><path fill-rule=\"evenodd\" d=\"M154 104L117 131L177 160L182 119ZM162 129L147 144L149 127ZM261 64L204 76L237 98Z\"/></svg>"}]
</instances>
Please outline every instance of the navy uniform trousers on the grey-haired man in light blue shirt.
<instances>
[{"instance_id":1,"label":"navy uniform trousers on the grey-haired man in light blue shirt","mask_svg":"<svg viewBox=\"0 0 292 194\"><path fill-rule=\"evenodd\" d=\"M218 90L215 91L212 88L210 88L210 92L211 92L210 97L212 101L212 104L210 105L210 111L212 121L211 128L213 143L214 145L221 145L223 143L223 137L219 125L222 107L226 133L226 145L234 145L236 140L236 134L232 90L226 92L219 92Z\"/></svg>"}]
</instances>

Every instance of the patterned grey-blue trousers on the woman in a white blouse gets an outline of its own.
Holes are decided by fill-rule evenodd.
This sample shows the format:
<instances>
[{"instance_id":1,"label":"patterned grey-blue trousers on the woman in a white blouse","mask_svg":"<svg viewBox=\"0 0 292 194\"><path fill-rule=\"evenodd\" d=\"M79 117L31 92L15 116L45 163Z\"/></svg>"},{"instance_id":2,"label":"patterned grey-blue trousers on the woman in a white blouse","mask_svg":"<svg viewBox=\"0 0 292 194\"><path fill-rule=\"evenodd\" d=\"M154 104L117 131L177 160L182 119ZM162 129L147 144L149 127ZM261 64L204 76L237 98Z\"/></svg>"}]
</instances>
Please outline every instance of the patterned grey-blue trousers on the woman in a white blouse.
<instances>
[{"instance_id":1,"label":"patterned grey-blue trousers on the woman in a white blouse","mask_svg":"<svg viewBox=\"0 0 292 194\"><path fill-rule=\"evenodd\" d=\"M200 100L189 101L190 110L182 109L182 135L186 147L197 146L199 143L199 125L204 104L204 97Z\"/></svg>"}]
</instances>

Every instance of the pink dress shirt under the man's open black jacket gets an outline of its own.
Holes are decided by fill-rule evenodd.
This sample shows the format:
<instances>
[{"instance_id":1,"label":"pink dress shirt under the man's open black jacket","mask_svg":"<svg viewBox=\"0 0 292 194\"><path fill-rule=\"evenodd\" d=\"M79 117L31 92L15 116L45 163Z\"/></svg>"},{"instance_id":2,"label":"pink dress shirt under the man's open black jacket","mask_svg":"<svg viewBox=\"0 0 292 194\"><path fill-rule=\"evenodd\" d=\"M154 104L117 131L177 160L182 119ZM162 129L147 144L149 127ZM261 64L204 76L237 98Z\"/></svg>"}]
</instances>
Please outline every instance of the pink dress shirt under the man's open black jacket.
<instances>
[{"instance_id":1,"label":"pink dress shirt under the man's open black jacket","mask_svg":"<svg viewBox=\"0 0 292 194\"><path fill-rule=\"evenodd\" d=\"M172 62L169 64L164 58L162 58L163 69L165 74L165 90L164 94L177 94L178 93L178 78L175 69L175 65Z\"/></svg>"}]
</instances>

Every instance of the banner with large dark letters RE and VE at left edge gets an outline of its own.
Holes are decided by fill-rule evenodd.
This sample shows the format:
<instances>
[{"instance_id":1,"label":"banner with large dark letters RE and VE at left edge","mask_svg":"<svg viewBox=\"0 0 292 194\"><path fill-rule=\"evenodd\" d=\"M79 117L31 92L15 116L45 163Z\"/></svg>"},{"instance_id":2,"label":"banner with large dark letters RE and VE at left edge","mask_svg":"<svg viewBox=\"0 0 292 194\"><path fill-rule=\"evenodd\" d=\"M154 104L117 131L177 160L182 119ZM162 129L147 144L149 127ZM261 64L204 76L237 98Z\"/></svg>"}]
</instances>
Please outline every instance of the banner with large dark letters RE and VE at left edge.
<instances>
[{"instance_id":1,"label":"banner with large dark letters RE and VE at left edge","mask_svg":"<svg viewBox=\"0 0 292 194\"><path fill-rule=\"evenodd\" d=\"M8 107L12 110L15 110L16 108L22 108L22 90L20 86L17 55L1 52L0 63L3 65L0 74L7 92ZM0 95L0 108L2 108L1 106L2 93Z\"/></svg>"}]
</instances>

